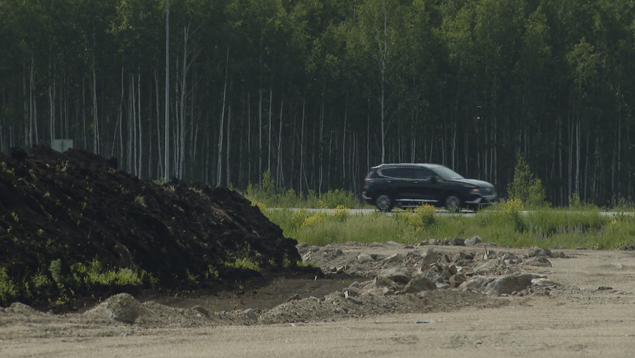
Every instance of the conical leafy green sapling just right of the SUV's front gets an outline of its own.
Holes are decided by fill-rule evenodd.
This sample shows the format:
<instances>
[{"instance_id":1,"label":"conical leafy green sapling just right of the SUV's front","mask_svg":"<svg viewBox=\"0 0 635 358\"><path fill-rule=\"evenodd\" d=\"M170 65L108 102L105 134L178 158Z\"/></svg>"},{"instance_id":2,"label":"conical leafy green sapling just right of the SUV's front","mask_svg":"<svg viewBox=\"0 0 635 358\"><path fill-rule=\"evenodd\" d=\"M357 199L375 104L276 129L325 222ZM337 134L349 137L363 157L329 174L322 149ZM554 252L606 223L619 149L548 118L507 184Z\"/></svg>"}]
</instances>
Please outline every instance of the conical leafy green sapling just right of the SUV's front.
<instances>
[{"instance_id":1,"label":"conical leafy green sapling just right of the SUV's front","mask_svg":"<svg viewBox=\"0 0 635 358\"><path fill-rule=\"evenodd\" d=\"M547 205L542 181L533 175L522 155L514 168L514 180L507 185L507 194L511 200L521 200L528 209Z\"/></svg>"}]
</instances>

